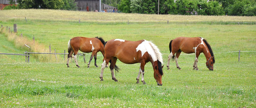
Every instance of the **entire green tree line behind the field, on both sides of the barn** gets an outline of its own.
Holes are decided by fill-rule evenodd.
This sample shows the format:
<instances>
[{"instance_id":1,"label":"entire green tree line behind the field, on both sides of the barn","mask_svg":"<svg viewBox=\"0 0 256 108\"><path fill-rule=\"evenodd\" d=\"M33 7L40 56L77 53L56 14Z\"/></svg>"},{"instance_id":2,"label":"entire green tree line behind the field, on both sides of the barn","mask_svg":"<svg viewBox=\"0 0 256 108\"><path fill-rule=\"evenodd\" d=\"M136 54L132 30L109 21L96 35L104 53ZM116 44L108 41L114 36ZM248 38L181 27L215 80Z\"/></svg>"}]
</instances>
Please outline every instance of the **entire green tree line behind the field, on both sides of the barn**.
<instances>
[{"instance_id":1,"label":"entire green tree line behind the field, on both sides of the barn","mask_svg":"<svg viewBox=\"0 0 256 108\"><path fill-rule=\"evenodd\" d=\"M14 0L9 0L15 3ZM159 0L159 14L256 16L256 0ZM4 9L77 10L75 0L17 0ZM102 0L123 13L157 14L158 0Z\"/></svg>"}]
</instances>

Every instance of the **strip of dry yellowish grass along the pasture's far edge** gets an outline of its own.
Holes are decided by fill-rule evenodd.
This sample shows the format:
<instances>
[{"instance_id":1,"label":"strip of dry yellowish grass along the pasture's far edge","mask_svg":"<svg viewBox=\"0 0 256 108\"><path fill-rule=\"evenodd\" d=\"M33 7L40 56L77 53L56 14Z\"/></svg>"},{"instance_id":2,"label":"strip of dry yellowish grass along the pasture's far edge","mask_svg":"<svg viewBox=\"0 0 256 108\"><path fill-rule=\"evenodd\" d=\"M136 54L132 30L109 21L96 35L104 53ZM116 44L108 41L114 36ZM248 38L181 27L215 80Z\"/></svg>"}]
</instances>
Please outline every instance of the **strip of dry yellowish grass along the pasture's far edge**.
<instances>
[{"instance_id":1,"label":"strip of dry yellowish grass along the pasture's far edge","mask_svg":"<svg viewBox=\"0 0 256 108\"><path fill-rule=\"evenodd\" d=\"M81 21L140 21L140 22L255 22L256 17L246 16L201 16L201 15L157 15L157 14L125 14L101 13L86 11L65 11L50 9L19 9L0 11L0 20L8 19L46 19L46 20L79 20Z\"/></svg>"}]
</instances>

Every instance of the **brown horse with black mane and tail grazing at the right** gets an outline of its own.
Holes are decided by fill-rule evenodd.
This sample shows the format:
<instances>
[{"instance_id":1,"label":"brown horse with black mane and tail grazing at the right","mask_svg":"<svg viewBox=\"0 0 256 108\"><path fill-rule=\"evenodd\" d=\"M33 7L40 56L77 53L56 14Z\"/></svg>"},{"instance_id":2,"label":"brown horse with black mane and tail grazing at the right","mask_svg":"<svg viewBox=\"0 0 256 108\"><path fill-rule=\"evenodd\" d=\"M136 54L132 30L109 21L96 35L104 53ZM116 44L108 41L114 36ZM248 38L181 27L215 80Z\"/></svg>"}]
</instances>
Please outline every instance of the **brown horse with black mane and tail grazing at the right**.
<instances>
[{"instance_id":1,"label":"brown horse with black mane and tail grazing at the right","mask_svg":"<svg viewBox=\"0 0 256 108\"><path fill-rule=\"evenodd\" d=\"M213 64L215 63L214 55L212 52L211 46L208 44L208 42L201 37L177 37L176 39L171 40L169 44L170 49L170 55L168 57L167 62L167 69L169 69L170 60L175 59L176 66L178 69L180 69L180 66L178 65L178 58L180 56L181 52L184 53L195 53L195 62L194 62L194 69L198 70L198 56L200 53L204 53L206 57L206 66L209 68L209 70L213 70ZM176 56L175 56L176 53Z\"/></svg>"}]
</instances>

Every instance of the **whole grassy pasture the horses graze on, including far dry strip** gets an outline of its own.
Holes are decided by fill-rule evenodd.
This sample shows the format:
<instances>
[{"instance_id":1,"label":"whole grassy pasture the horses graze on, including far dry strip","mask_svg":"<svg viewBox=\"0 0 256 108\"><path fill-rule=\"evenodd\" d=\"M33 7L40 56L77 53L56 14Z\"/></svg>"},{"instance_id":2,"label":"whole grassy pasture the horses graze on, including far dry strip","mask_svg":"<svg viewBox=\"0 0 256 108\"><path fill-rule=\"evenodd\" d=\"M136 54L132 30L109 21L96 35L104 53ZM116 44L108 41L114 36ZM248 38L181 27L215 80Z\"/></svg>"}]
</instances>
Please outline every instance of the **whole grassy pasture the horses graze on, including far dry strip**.
<instances>
[{"instance_id":1,"label":"whole grassy pasture the horses graze on, including far dry strip","mask_svg":"<svg viewBox=\"0 0 256 108\"><path fill-rule=\"evenodd\" d=\"M64 50L67 52L67 42L72 37L99 36L105 41L152 41L164 60L163 86L157 86L151 63L145 65L147 84L143 85L142 82L136 83L139 64L120 61L116 62L121 69L116 72L118 82L112 80L109 68L105 68L104 81L100 81L103 59L100 53L98 68L93 66L94 60L87 68L81 56L80 68L74 61L67 68L67 56L64 61L63 55L58 56L58 61L54 55L48 56L50 60L32 55L29 63L25 63L23 56L1 55L0 107L256 107L256 52L241 52L239 62L238 52L227 53L256 50L256 17L157 16L33 9L0 11L0 14L0 25L13 27L16 23L18 26L17 37L9 38L6 32L0 34L0 53L32 52L35 51L33 49L47 51L49 44L52 50L63 53ZM25 16L29 16L26 17L27 22ZM127 24L127 20L133 21ZM250 24L237 25L233 22ZM20 33L27 42L15 41ZM195 55L184 53L178 59L181 70L176 68L175 62L171 62L167 70L169 42L179 36L206 39L215 55L214 71L206 67L204 54L198 58L199 70L192 70ZM30 43L32 37L40 47L28 49L23 45ZM87 62L89 58L90 55L86 55Z\"/></svg>"}]
</instances>

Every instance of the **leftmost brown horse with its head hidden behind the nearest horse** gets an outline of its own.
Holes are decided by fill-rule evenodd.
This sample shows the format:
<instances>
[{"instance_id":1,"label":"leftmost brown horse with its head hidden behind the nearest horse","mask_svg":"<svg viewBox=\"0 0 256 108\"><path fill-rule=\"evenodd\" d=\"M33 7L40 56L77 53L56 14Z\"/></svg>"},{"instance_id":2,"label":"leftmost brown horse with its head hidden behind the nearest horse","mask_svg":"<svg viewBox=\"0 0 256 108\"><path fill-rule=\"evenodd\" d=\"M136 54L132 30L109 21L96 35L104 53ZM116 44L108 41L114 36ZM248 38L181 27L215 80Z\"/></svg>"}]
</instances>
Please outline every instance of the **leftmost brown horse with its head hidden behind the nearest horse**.
<instances>
[{"instance_id":1,"label":"leftmost brown horse with its head hidden behind the nearest horse","mask_svg":"<svg viewBox=\"0 0 256 108\"><path fill-rule=\"evenodd\" d=\"M90 53L92 52L92 55L90 56L90 61L88 62L88 67L90 67L90 62L93 59L94 56L94 65L96 67L96 59L97 59L97 53L100 51L104 57L104 44L105 41L102 38L86 38L86 37L74 37L70 39L68 42L68 55L67 55L67 67L69 67L69 61L71 55L74 53L74 59L76 62L76 66L80 67L76 60L76 55L78 53L78 50L84 53Z\"/></svg>"}]
</instances>

